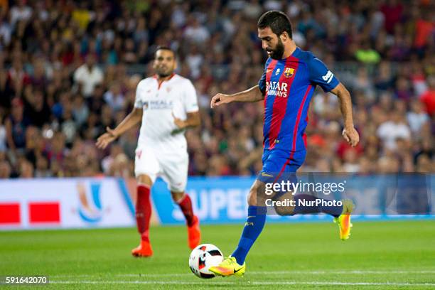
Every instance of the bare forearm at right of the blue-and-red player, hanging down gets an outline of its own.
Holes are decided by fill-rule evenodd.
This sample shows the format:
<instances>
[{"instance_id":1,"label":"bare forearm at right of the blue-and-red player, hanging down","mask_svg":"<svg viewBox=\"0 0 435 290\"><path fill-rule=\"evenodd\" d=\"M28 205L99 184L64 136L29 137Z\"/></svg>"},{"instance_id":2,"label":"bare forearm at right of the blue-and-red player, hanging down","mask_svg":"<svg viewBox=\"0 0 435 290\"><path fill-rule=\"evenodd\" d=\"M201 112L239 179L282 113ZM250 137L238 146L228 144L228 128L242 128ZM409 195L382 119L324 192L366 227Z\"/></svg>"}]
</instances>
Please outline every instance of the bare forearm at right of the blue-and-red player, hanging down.
<instances>
[{"instance_id":1,"label":"bare forearm at right of the blue-and-red player, hanging down","mask_svg":"<svg viewBox=\"0 0 435 290\"><path fill-rule=\"evenodd\" d=\"M360 141L360 135L353 126L352 115L352 100L350 100L350 92L340 82L331 92L338 97L340 101L340 111L343 115L345 127L343 129L343 137L350 146L357 146Z\"/></svg>"}]
</instances>

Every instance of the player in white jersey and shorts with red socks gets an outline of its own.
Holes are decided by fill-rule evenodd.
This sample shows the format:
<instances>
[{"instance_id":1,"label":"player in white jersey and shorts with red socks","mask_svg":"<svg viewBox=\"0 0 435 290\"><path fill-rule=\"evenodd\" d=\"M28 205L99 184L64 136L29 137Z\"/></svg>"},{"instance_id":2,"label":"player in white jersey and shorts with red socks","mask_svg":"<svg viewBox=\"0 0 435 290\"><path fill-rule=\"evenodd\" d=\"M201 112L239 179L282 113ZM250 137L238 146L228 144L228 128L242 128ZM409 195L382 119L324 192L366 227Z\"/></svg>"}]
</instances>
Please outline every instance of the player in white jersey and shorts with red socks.
<instances>
[{"instance_id":1,"label":"player in white jersey and shorts with red socks","mask_svg":"<svg viewBox=\"0 0 435 290\"><path fill-rule=\"evenodd\" d=\"M137 85L134 109L115 129L107 128L96 144L104 149L119 135L142 122L134 161L138 182L136 222L141 235L141 244L131 251L135 257L153 254L149 240L150 189L157 176L168 183L173 200L183 211L189 247L193 249L200 242L199 220L193 215L189 195L184 192L188 177L184 131L200 124L195 88L190 80L173 73L176 56L171 48L157 48L153 68L156 75Z\"/></svg>"}]
</instances>

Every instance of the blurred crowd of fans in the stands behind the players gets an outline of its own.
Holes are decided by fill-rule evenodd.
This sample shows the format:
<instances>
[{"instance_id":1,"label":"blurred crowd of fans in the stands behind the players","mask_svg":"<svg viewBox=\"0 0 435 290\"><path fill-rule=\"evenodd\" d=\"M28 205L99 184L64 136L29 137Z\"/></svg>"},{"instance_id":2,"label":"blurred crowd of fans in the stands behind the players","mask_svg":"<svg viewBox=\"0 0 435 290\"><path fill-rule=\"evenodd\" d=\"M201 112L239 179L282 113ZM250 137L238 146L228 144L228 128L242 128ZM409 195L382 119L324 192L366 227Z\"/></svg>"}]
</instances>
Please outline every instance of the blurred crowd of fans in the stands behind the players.
<instances>
[{"instance_id":1,"label":"blurred crowd of fans in the stands behind the players","mask_svg":"<svg viewBox=\"0 0 435 290\"><path fill-rule=\"evenodd\" d=\"M338 99L318 89L301 171L432 172L435 18L431 1L0 1L0 178L133 176L138 129L106 151L105 127L132 109L157 45L195 85L201 127L186 136L191 176L262 167L263 104L210 110L217 92L256 85L266 55L257 19L291 18L296 44L351 92L355 148Z\"/></svg>"}]
</instances>

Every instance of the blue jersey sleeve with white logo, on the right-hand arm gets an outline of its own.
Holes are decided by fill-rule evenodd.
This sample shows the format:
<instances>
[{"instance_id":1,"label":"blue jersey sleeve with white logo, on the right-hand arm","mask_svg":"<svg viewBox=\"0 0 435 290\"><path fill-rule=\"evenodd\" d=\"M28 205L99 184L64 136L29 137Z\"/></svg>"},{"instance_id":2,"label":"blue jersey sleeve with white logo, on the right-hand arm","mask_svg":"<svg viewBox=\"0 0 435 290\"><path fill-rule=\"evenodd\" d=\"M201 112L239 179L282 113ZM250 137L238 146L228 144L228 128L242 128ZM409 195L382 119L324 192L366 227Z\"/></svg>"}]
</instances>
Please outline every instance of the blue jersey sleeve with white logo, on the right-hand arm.
<instances>
[{"instance_id":1,"label":"blue jersey sleeve with white logo, on the right-hand arm","mask_svg":"<svg viewBox=\"0 0 435 290\"><path fill-rule=\"evenodd\" d=\"M316 57L308 62L310 70L310 81L315 85L320 85L325 92L333 90L340 81L334 76L331 70Z\"/></svg>"}]
</instances>

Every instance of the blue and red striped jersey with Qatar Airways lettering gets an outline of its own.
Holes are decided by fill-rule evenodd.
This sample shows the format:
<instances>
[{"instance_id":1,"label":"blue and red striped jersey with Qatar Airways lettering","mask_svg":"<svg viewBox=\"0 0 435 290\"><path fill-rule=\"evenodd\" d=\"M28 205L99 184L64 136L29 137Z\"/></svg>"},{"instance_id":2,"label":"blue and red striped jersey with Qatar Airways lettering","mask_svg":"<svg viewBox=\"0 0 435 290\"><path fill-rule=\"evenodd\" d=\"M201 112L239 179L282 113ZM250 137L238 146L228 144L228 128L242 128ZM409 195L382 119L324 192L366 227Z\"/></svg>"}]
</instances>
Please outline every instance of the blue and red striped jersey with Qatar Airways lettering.
<instances>
[{"instance_id":1,"label":"blue and red striped jersey with Qatar Airways lettering","mask_svg":"<svg viewBox=\"0 0 435 290\"><path fill-rule=\"evenodd\" d=\"M338 83L321 60L300 48L288 58L268 58L258 83L264 94L264 149L305 151L308 106L316 85L329 92Z\"/></svg>"}]
</instances>

